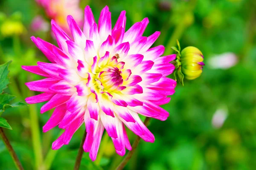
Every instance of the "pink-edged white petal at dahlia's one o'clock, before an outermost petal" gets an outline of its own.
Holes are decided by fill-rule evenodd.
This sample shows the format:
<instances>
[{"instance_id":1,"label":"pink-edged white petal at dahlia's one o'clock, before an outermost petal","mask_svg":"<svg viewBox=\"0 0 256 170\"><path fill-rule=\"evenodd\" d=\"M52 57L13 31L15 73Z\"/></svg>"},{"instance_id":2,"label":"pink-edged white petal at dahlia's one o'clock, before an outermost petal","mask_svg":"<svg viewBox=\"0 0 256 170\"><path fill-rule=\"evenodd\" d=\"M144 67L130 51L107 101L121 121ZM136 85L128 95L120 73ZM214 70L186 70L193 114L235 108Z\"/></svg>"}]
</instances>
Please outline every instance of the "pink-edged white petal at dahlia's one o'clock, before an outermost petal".
<instances>
[{"instance_id":1,"label":"pink-edged white petal at dahlia's one o'clock, before an outermost petal","mask_svg":"<svg viewBox=\"0 0 256 170\"><path fill-rule=\"evenodd\" d=\"M142 23L135 23L128 31L125 32L123 42L132 43L137 37L140 37L140 31L142 28Z\"/></svg>"}]
</instances>

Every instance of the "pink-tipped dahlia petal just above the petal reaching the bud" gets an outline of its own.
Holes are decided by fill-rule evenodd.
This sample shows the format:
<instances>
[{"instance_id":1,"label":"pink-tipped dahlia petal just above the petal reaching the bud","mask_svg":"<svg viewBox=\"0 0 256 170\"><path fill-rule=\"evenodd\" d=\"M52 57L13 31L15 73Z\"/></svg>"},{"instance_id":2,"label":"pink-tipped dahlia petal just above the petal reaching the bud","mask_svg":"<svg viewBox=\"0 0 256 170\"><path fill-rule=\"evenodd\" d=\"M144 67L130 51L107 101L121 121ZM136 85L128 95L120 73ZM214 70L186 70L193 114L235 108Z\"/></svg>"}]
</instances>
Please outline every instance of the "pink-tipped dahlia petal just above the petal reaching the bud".
<instances>
[{"instance_id":1,"label":"pink-tipped dahlia petal just above the petal reaching the bud","mask_svg":"<svg viewBox=\"0 0 256 170\"><path fill-rule=\"evenodd\" d=\"M149 48L148 51L143 52L142 54L145 56L144 60L152 60L156 59L157 57L160 57L164 52L164 46L158 45L153 48Z\"/></svg>"}]
</instances>

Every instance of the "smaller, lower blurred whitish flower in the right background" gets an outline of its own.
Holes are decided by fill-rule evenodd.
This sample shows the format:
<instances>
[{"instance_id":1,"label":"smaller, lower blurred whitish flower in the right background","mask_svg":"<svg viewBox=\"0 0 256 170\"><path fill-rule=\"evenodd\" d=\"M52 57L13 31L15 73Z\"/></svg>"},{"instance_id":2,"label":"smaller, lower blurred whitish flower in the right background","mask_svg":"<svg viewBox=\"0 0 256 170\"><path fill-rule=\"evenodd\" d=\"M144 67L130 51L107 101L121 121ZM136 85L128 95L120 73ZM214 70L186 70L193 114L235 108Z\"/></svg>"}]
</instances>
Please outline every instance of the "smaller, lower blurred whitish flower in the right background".
<instances>
[{"instance_id":1,"label":"smaller, lower blurred whitish flower in the right background","mask_svg":"<svg viewBox=\"0 0 256 170\"><path fill-rule=\"evenodd\" d=\"M227 119L227 108L218 108L212 116L212 127L219 129Z\"/></svg>"}]
</instances>

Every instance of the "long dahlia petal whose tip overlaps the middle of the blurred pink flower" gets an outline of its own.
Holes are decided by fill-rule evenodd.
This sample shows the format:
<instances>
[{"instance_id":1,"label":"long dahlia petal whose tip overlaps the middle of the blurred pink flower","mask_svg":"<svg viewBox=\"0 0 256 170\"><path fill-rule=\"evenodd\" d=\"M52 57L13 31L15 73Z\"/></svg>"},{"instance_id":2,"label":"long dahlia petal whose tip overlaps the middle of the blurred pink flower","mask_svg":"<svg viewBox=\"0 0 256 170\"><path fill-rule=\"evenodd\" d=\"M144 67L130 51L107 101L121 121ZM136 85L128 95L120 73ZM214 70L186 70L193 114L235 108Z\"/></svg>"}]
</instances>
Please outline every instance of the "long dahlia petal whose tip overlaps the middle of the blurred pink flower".
<instances>
[{"instance_id":1,"label":"long dahlia petal whose tip overlaps the middle of the blurred pink flower","mask_svg":"<svg viewBox=\"0 0 256 170\"><path fill-rule=\"evenodd\" d=\"M74 41L79 45L80 48L85 48L86 37L79 28L79 25L73 19L71 15L67 16L67 23L70 27L71 34L73 35Z\"/></svg>"}]
</instances>

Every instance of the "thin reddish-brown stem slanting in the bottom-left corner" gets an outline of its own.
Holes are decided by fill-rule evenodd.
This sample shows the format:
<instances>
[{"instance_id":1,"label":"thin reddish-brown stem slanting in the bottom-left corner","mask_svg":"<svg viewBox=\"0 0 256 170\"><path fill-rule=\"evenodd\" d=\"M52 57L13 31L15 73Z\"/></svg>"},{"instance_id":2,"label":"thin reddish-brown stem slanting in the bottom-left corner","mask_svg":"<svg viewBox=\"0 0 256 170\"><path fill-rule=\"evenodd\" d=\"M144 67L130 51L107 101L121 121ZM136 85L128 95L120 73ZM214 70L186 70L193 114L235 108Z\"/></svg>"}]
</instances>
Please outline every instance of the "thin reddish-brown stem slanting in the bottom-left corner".
<instances>
[{"instance_id":1,"label":"thin reddish-brown stem slanting in the bottom-left corner","mask_svg":"<svg viewBox=\"0 0 256 170\"><path fill-rule=\"evenodd\" d=\"M17 157L15 151L14 151L13 148L12 148L12 145L10 144L10 142L9 142L9 140L7 139L6 135L4 134L2 127L0 127L0 136L2 137L3 143L6 145L6 147L7 147L8 151L9 151L10 155L12 156L12 159L13 159L13 161L14 161L15 166L17 167L17 169L18 169L18 170L23 170L23 167L22 167L22 165L21 165L21 163L20 163L20 161L19 161L19 159L18 159L18 157Z\"/></svg>"}]
</instances>

